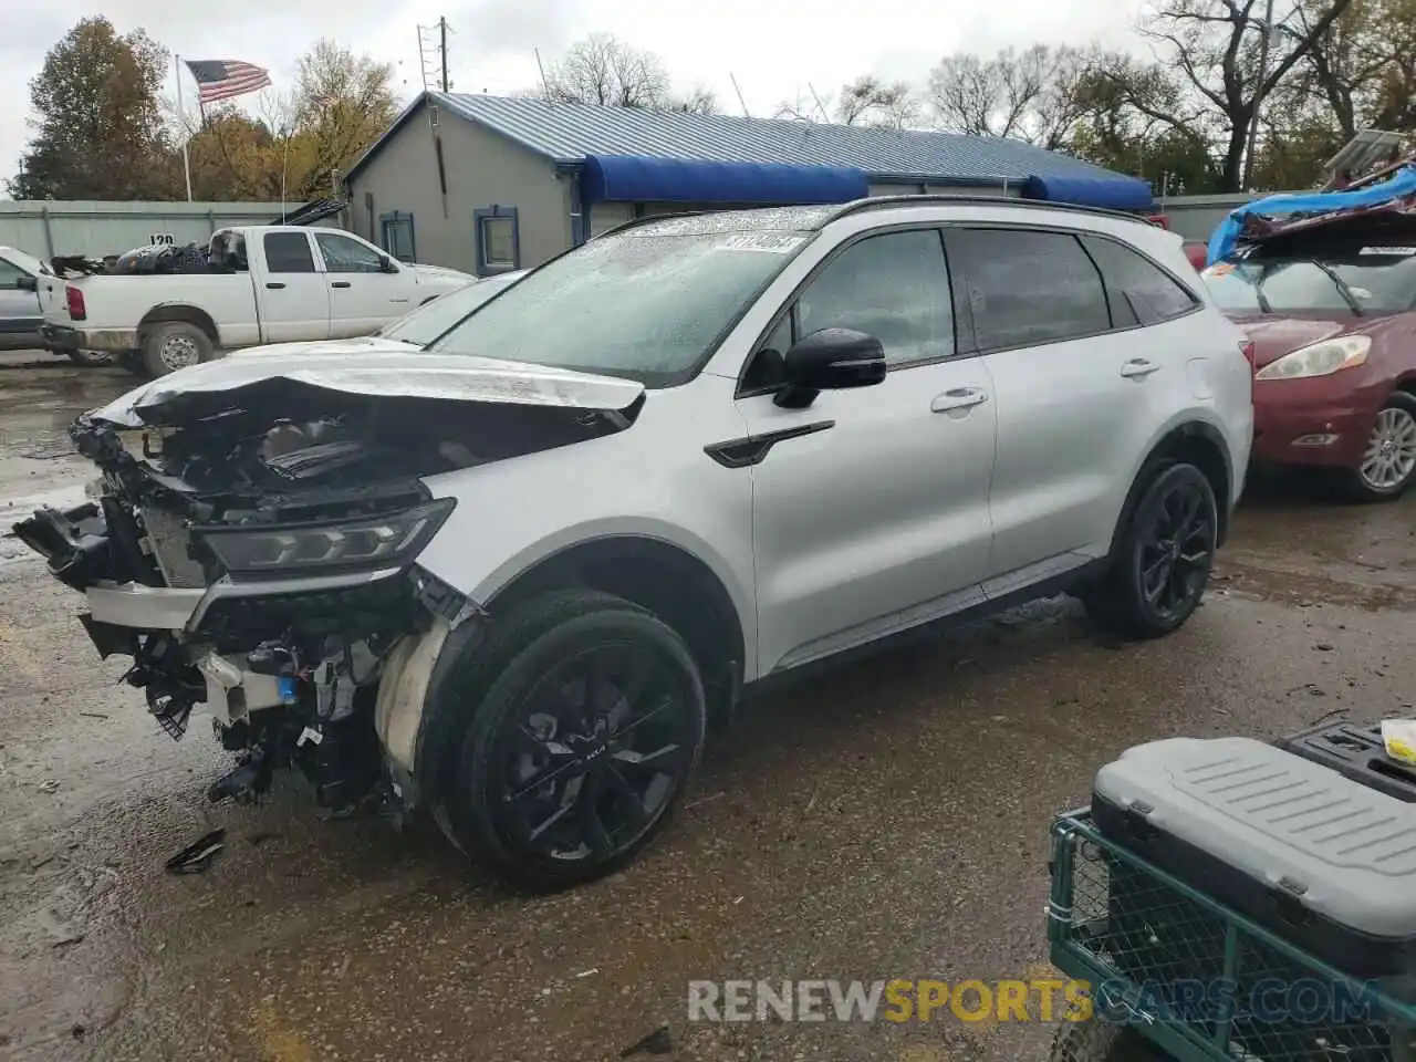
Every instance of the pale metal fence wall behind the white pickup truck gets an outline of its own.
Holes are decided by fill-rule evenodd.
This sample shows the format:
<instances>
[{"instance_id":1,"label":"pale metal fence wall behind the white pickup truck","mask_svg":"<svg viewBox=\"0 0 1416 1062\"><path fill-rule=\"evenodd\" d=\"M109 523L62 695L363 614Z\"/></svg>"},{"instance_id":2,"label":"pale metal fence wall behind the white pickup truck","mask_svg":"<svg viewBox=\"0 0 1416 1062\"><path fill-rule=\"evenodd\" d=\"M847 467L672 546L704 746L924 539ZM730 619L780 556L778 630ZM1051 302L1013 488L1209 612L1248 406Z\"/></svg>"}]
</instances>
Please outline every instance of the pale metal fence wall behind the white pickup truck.
<instances>
[{"instance_id":1,"label":"pale metal fence wall behind the white pickup truck","mask_svg":"<svg viewBox=\"0 0 1416 1062\"><path fill-rule=\"evenodd\" d=\"M300 204L290 202L287 210ZM144 244L205 244L227 225L265 225L279 202L0 201L0 246L48 261L55 255L120 255ZM321 225L338 225L337 218Z\"/></svg>"}]
</instances>

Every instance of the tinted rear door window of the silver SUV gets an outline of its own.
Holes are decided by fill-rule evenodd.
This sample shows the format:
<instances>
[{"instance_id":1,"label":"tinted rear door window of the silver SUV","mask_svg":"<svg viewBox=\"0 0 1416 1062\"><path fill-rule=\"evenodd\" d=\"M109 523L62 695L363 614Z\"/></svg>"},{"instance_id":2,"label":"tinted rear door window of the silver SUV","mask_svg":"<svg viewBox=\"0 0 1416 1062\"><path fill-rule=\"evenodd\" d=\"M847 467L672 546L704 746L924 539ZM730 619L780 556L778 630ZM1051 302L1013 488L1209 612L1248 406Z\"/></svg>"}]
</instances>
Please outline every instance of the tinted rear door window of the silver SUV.
<instances>
[{"instance_id":1,"label":"tinted rear door window of the silver SUV","mask_svg":"<svg viewBox=\"0 0 1416 1062\"><path fill-rule=\"evenodd\" d=\"M1076 236L952 228L944 241L981 351L1059 343L1112 327L1102 275Z\"/></svg>"}]
</instances>

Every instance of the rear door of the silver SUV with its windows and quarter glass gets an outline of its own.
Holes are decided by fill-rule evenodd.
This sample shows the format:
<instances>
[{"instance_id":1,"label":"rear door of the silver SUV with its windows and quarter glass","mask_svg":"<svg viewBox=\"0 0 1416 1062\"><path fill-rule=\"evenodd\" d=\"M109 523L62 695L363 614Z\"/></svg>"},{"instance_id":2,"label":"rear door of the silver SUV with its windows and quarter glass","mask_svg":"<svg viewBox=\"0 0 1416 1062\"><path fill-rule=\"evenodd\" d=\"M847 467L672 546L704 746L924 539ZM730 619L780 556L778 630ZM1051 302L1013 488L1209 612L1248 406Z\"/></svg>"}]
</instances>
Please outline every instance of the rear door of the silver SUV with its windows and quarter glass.
<instances>
[{"instance_id":1,"label":"rear door of the silver SUV with its windows and quarter glass","mask_svg":"<svg viewBox=\"0 0 1416 1062\"><path fill-rule=\"evenodd\" d=\"M1188 330L1144 324L1197 303L1103 236L959 227L946 245L997 391L986 589L1001 595L1109 549L1137 455L1189 391Z\"/></svg>"}]
</instances>

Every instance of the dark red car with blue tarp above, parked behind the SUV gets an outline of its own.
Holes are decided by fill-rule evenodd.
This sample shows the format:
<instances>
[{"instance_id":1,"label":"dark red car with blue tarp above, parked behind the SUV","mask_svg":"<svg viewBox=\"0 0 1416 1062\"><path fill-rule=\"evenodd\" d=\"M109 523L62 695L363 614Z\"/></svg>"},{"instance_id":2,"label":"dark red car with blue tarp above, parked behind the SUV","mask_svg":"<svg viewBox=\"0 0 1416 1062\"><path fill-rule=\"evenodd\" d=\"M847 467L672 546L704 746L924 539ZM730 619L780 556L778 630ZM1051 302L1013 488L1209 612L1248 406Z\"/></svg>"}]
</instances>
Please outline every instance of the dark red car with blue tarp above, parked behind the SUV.
<instances>
[{"instance_id":1,"label":"dark red car with blue tarp above, parked behind the SUV","mask_svg":"<svg viewBox=\"0 0 1416 1062\"><path fill-rule=\"evenodd\" d=\"M1204 272L1253 341L1253 457L1332 469L1364 500L1416 476L1416 232L1252 246Z\"/></svg>"}]
</instances>

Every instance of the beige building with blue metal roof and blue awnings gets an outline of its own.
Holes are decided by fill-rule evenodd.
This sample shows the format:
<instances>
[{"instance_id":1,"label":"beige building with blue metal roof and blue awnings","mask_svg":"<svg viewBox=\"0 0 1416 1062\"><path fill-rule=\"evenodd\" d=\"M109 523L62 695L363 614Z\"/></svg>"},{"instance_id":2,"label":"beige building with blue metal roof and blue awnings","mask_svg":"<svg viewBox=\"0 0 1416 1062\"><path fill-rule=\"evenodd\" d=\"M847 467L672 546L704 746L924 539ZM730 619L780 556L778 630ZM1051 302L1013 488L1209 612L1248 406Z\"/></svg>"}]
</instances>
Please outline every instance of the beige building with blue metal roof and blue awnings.
<instances>
[{"instance_id":1,"label":"beige building with blue metal roof and blue awnings","mask_svg":"<svg viewBox=\"0 0 1416 1062\"><path fill-rule=\"evenodd\" d=\"M353 228L487 276L637 217L867 195L1148 211L1143 180L1017 140L425 92L350 167Z\"/></svg>"}]
</instances>

